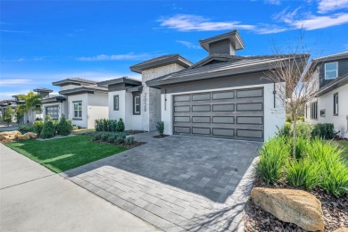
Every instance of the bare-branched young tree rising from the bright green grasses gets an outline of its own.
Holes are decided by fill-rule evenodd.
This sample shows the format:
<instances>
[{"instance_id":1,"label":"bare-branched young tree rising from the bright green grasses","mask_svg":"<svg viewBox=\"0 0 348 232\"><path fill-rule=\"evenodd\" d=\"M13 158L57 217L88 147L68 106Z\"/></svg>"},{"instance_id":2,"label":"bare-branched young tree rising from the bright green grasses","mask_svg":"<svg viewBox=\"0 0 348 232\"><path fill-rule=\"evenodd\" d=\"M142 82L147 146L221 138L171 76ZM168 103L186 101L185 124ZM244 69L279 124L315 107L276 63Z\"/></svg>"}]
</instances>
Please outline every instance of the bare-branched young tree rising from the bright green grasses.
<instances>
[{"instance_id":1,"label":"bare-branched young tree rising from the bright green grasses","mask_svg":"<svg viewBox=\"0 0 348 232\"><path fill-rule=\"evenodd\" d=\"M296 153L296 121L297 115L316 94L319 87L316 65L307 65L310 53L303 44L302 32L299 42L289 44L286 48L290 54L283 54L278 46L274 45L276 62L272 62L266 76L277 85L276 95L284 109L287 109L294 120L293 129L293 157ZM315 62L313 60L312 62Z\"/></svg>"}]
</instances>

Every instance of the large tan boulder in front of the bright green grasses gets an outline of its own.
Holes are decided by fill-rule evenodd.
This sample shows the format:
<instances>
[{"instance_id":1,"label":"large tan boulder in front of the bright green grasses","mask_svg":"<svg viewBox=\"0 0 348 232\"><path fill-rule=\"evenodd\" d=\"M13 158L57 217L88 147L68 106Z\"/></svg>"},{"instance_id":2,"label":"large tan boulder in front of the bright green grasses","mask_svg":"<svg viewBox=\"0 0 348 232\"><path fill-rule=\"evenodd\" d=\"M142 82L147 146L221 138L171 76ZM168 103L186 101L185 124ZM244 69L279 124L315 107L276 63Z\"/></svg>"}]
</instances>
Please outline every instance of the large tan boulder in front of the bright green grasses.
<instances>
[{"instance_id":1,"label":"large tan boulder in front of the bright green grasses","mask_svg":"<svg viewBox=\"0 0 348 232\"><path fill-rule=\"evenodd\" d=\"M308 231L324 230L321 203L310 193L295 189L254 187L252 200L278 220L294 223Z\"/></svg>"}]
</instances>

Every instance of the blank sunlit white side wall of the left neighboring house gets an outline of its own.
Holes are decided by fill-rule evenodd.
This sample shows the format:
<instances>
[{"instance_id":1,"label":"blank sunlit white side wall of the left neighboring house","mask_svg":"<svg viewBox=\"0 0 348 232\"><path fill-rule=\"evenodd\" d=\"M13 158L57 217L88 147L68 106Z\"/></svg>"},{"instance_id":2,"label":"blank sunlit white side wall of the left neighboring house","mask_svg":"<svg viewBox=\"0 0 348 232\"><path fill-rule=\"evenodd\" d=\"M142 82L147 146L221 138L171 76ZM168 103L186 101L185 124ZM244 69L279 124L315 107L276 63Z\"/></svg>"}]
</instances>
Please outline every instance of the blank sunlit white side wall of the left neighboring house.
<instances>
[{"instance_id":1,"label":"blank sunlit white side wall of the left neighboring house","mask_svg":"<svg viewBox=\"0 0 348 232\"><path fill-rule=\"evenodd\" d=\"M87 94L87 128L95 128L95 120L107 119L109 113L108 94Z\"/></svg>"}]
</instances>

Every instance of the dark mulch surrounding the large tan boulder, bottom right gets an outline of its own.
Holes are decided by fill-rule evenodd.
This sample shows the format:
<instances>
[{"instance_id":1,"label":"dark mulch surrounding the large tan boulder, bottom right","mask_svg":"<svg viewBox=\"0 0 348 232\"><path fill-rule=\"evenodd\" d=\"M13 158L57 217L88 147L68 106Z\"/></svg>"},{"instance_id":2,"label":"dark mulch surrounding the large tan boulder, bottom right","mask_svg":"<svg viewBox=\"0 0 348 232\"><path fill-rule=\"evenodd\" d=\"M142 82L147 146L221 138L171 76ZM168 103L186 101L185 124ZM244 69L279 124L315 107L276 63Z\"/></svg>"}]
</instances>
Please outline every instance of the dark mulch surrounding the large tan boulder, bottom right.
<instances>
[{"instance_id":1,"label":"dark mulch surrounding the large tan boulder, bottom right","mask_svg":"<svg viewBox=\"0 0 348 232\"><path fill-rule=\"evenodd\" d=\"M253 186L293 188L284 181L277 186L267 186L260 177L256 177ZM296 188L298 189L298 188ZM316 188L310 191L321 202L325 218L325 231L334 231L336 228L348 227L348 197L347 195L336 198L333 195L325 193L322 189ZM253 204L249 199L244 209L244 227L245 231L305 231L293 223L278 220L267 211Z\"/></svg>"}]
</instances>

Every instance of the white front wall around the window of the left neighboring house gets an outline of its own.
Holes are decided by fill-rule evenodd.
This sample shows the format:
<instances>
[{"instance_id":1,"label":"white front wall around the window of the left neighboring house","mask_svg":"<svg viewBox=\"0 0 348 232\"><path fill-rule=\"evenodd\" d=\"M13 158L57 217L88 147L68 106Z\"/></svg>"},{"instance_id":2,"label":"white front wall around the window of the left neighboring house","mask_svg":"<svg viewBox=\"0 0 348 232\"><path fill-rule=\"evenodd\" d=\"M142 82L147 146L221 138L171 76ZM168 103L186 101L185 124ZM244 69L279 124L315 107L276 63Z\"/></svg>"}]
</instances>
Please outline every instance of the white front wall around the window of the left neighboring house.
<instances>
[{"instance_id":1,"label":"white front wall around the window of the left neighboring house","mask_svg":"<svg viewBox=\"0 0 348 232\"><path fill-rule=\"evenodd\" d=\"M74 104L75 101L82 101L82 118L81 120L74 120ZM88 104L88 98L87 94L82 95L70 95L68 97L69 102L69 120L72 121L72 125L77 125L81 128L88 128L88 122L87 122L87 104Z\"/></svg>"}]
</instances>

